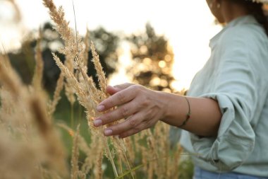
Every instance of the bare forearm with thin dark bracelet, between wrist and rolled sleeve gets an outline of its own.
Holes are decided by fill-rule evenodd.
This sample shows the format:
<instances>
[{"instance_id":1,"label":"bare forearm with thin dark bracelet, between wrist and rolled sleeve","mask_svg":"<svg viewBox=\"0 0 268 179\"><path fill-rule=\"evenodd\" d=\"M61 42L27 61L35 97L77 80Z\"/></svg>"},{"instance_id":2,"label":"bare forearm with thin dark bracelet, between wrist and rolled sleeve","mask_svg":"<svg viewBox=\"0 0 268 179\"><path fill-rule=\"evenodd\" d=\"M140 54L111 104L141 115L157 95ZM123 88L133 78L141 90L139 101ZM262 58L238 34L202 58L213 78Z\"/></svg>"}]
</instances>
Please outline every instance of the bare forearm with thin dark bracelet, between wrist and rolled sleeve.
<instances>
[{"instance_id":1,"label":"bare forearm with thin dark bracelet, between wrist and rolled sleeve","mask_svg":"<svg viewBox=\"0 0 268 179\"><path fill-rule=\"evenodd\" d=\"M163 122L179 127L189 112L188 102L184 96L160 92L166 102ZM210 98L187 97L190 103L190 118L181 128L200 136L216 136L221 112L216 100Z\"/></svg>"}]
</instances>

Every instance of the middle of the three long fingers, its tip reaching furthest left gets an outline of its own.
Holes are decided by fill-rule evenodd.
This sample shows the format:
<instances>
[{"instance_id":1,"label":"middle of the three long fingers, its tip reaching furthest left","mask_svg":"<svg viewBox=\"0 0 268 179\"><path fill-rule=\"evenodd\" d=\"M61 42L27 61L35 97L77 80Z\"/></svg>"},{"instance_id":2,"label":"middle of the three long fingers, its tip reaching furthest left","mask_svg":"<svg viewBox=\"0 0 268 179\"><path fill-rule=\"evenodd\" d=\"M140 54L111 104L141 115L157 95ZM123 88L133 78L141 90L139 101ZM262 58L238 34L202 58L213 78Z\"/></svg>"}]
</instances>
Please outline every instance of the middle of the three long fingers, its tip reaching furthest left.
<instances>
[{"instance_id":1,"label":"middle of the three long fingers, its tip reaching furthest left","mask_svg":"<svg viewBox=\"0 0 268 179\"><path fill-rule=\"evenodd\" d=\"M123 118L127 118L130 115L133 115L138 110L138 105L136 105L135 101L131 101L130 103L126 103L125 105L121 105L116 110L111 110L106 112L104 115L99 116L95 119L95 127L100 125L106 125L110 122L114 122L116 120L121 120Z\"/></svg>"}]
</instances>

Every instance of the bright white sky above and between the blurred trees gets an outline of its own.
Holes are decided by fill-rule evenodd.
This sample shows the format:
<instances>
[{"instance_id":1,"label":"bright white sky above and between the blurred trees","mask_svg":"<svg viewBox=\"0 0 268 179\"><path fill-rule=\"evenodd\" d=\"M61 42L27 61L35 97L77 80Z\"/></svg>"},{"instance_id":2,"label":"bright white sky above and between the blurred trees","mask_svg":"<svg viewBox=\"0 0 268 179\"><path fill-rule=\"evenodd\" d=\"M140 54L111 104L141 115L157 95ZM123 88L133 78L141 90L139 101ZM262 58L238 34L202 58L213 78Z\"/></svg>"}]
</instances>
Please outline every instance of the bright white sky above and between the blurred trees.
<instances>
[{"instance_id":1,"label":"bright white sky above and between the blurred trees","mask_svg":"<svg viewBox=\"0 0 268 179\"><path fill-rule=\"evenodd\" d=\"M15 0L20 9L21 21L14 22L14 8L6 0L0 0L0 43L7 49L18 47L28 30L37 29L49 21L47 8L41 0ZM108 31L125 34L145 30L150 22L157 33L165 35L173 47L175 64L174 86L188 88L195 73L209 58L209 39L221 30L214 25L214 17L205 0L54 0L56 6L63 6L66 18L74 28L73 2L78 33L86 28L93 30L103 26ZM128 47L120 58L126 63ZM123 71L114 76L111 84L128 81Z\"/></svg>"}]
</instances>

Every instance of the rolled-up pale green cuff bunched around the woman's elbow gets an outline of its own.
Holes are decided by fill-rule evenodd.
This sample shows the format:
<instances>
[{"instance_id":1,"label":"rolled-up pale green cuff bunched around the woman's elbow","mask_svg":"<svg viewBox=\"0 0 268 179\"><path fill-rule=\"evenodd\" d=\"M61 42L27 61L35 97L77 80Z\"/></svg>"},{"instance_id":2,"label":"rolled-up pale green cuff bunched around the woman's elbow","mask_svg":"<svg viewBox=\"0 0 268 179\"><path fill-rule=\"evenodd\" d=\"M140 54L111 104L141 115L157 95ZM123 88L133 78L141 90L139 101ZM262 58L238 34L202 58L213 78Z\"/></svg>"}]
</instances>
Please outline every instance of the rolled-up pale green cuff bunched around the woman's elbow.
<instances>
[{"instance_id":1,"label":"rolled-up pale green cuff bunched around the woman's elbow","mask_svg":"<svg viewBox=\"0 0 268 179\"><path fill-rule=\"evenodd\" d=\"M255 145L255 132L250 119L236 97L209 93L202 98L217 100L221 110L221 124L217 137L190 134L198 158L216 166L219 171L231 171L250 156Z\"/></svg>"}]
</instances>

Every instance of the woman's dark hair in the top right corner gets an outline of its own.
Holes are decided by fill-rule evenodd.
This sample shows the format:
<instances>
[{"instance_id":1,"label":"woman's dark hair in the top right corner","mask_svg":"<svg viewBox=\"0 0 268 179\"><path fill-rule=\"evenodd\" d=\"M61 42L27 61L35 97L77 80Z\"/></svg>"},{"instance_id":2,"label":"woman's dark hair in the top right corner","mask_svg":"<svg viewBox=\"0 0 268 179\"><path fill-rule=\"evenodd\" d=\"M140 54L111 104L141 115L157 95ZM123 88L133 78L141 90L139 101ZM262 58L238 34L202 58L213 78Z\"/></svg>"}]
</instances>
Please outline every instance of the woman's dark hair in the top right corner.
<instances>
[{"instance_id":1,"label":"woman's dark hair in the top right corner","mask_svg":"<svg viewBox=\"0 0 268 179\"><path fill-rule=\"evenodd\" d=\"M249 0L231 0L238 4L243 4L248 9L248 12L255 17L258 23L260 23L268 36L268 17L266 16L263 4L256 3Z\"/></svg>"}]
</instances>

